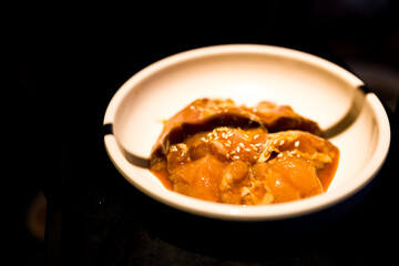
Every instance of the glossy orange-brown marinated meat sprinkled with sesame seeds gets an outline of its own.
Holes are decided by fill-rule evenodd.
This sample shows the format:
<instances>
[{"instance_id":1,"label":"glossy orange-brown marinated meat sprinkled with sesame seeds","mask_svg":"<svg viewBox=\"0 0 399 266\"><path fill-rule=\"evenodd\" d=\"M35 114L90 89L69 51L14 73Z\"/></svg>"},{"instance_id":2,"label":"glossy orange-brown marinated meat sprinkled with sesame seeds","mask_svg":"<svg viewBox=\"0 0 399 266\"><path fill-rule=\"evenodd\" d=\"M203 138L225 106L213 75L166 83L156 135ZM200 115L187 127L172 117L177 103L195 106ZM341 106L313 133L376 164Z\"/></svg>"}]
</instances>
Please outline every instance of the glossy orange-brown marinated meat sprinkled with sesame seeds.
<instances>
[{"instance_id":1,"label":"glossy orange-brown marinated meat sprinkled with sesame seeds","mask_svg":"<svg viewBox=\"0 0 399 266\"><path fill-rule=\"evenodd\" d=\"M321 194L339 150L290 106L200 99L165 122L150 160L168 190L211 202L259 205Z\"/></svg>"}]
</instances>

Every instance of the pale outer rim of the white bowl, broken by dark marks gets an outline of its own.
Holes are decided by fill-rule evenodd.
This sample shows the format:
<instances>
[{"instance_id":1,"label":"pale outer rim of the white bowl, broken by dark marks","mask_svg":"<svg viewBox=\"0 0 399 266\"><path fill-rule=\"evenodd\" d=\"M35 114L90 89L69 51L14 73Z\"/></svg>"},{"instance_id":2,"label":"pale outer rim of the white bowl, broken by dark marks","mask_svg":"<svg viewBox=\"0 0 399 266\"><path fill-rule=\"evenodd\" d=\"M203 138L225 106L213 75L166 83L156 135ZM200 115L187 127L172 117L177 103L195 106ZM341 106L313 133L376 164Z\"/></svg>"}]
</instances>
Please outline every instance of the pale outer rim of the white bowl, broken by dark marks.
<instances>
[{"instance_id":1,"label":"pale outer rim of the white bowl, broken by dark marks","mask_svg":"<svg viewBox=\"0 0 399 266\"><path fill-rule=\"evenodd\" d=\"M305 53L301 51L296 51L287 48L279 48L273 45L264 44L224 44L224 45L214 45L198 48L185 52L181 52L165 59L162 59L143 70L139 71L132 78L130 78L114 94L112 100L109 103L106 109L103 125L112 125L117 109L124 96L131 91L134 90L135 85L139 84L142 80L151 76L157 71L168 68L176 63L182 63L186 60L193 60L202 57L208 57L213 54L228 54L228 53L272 53L279 54L287 58L294 58L298 60L304 60L311 64L316 64L319 68L327 69L328 71L334 72L337 75L342 76L348 80L354 86L362 85L362 82L355 76L349 71L316 55ZM193 198L185 196L173 191L168 190L153 190L154 187L149 187L145 184L134 178L133 166L123 155L115 136L112 132L106 132L104 134L104 144L106 152L119 170L119 172L136 188L142 191L144 194L178 209L213 217L221 219L232 219L232 221L275 221L283 218L291 218L301 215L307 215L315 213L317 211L330 207L344 200L355 195L371 180L376 176L380 167L382 166L390 145L390 126L387 113L378 100L378 98L372 93L366 93L366 103L369 104L372 113L376 116L376 124L378 129L378 141L376 144L376 151L370 157L370 162L366 165L365 168L360 171L357 175L358 178L354 178L348 182L345 187L336 190L335 193L324 193L317 196L309 198L283 203L283 204L272 204L272 205L256 205L256 206L245 206L245 205L233 205L224 203L213 203L206 202L203 200Z\"/></svg>"}]
</instances>

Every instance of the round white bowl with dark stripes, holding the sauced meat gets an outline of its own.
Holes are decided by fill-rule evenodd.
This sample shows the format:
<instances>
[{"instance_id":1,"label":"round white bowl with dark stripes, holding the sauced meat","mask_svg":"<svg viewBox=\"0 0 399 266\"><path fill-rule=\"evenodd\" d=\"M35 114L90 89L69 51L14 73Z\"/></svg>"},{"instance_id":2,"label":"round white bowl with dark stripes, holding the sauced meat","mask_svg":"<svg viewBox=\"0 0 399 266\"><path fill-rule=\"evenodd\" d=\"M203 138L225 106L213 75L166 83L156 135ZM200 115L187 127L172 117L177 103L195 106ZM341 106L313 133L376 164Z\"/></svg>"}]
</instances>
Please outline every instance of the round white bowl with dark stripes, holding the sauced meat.
<instances>
[{"instance_id":1,"label":"round white bowl with dark stripes, holding the sauced meat","mask_svg":"<svg viewBox=\"0 0 399 266\"><path fill-rule=\"evenodd\" d=\"M113 164L130 183L178 209L234 221L314 214L366 187L388 153L387 114L374 93L359 90L362 85L342 68L290 49L253 44L201 48L155 62L124 83L108 106L104 125L112 125L113 131L104 135L104 142ZM162 121L198 98L232 99L249 106L267 100L293 106L321 129L345 126L330 139L340 150L340 162L329 190L274 205L212 203L166 190L147 168L126 160L126 153L149 157Z\"/></svg>"}]
</instances>

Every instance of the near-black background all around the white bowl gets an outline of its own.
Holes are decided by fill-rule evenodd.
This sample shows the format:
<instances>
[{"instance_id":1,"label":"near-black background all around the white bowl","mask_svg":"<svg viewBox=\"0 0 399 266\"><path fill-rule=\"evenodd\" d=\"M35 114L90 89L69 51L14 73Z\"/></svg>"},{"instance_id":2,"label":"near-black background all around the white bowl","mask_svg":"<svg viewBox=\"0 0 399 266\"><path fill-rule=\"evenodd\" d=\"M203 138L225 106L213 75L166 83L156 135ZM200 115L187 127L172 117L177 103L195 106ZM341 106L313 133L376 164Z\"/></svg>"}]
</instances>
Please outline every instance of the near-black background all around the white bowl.
<instances>
[{"instance_id":1,"label":"near-black background all around the white bowl","mask_svg":"<svg viewBox=\"0 0 399 266\"><path fill-rule=\"evenodd\" d=\"M42 8L48 9L18 7L6 38L11 60L3 103L11 99L11 108L3 124L10 146L4 229L14 265L374 265L395 258L397 1L267 1L236 4L235 11L205 3L168 6L174 12L158 4L156 11ZM243 228L164 207L113 167L101 130L116 90L162 58L226 43L280 45L331 60L386 103L390 155L352 212L315 231L270 236L258 225ZM48 206L44 239L27 226L41 193Z\"/></svg>"}]
</instances>

